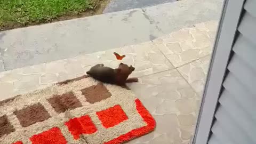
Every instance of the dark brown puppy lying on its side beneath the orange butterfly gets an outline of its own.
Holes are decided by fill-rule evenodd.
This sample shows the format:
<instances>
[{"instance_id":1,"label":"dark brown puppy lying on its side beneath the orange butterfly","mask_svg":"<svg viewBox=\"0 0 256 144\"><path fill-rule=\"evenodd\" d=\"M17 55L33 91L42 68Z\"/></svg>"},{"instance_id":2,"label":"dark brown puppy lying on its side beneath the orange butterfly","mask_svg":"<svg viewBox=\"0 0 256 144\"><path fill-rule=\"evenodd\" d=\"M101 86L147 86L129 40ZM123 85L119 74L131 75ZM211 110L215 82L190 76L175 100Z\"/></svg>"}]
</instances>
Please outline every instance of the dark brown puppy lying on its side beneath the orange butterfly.
<instances>
[{"instance_id":1,"label":"dark brown puppy lying on its side beneath the orange butterfly","mask_svg":"<svg viewBox=\"0 0 256 144\"><path fill-rule=\"evenodd\" d=\"M134 67L129 67L124 63L120 63L116 69L104 67L103 64L97 64L87 71L86 74L103 83L125 86L125 83L138 82L137 77L128 78L134 69Z\"/></svg>"}]
</instances>

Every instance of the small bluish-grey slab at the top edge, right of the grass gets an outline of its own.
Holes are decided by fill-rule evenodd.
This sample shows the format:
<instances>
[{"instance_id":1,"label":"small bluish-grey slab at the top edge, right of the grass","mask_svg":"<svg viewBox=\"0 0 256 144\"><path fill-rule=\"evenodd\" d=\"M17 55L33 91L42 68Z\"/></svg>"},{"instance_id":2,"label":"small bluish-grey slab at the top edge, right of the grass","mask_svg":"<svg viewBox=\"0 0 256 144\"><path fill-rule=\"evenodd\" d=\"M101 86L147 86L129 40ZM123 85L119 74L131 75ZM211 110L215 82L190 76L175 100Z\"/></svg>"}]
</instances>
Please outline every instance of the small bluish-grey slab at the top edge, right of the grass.
<instances>
[{"instance_id":1,"label":"small bluish-grey slab at the top edge, right of the grass","mask_svg":"<svg viewBox=\"0 0 256 144\"><path fill-rule=\"evenodd\" d=\"M176 2L177 0L112 0L107 5L103 13L117 12L129 9L136 9L151 5L163 4L168 2Z\"/></svg>"}]
</instances>

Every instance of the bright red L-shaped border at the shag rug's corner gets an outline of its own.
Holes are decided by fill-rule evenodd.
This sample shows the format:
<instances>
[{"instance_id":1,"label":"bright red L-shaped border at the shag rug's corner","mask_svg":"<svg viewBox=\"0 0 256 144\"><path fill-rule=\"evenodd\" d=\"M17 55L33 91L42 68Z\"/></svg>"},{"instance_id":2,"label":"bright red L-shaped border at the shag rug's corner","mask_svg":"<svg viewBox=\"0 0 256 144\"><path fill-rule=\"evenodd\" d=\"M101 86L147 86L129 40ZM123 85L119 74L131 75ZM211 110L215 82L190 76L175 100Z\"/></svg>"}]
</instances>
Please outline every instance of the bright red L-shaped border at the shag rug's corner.
<instances>
[{"instance_id":1,"label":"bright red L-shaped border at the shag rug's corner","mask_svg":"<svg viewBox=\"0 0 256 144\"><path fill-rule=\"evenodd\" d=\"M132 130L126 134L123 134L119 136L118 138L115 138L113 140L110 140L108 142L105 142L104 144L118 144L123 143L125 141L132 140L134 138L138 138L142 135L145 135L151 131L153 131L156 127L156 121L151 116L149 111L143 106L141 101L139 99L135 100L136 103L136 109L140 116L143 118L143 120L147 123L146 126L140 127L139 129Z\"/></svg>"}]
</instances>

